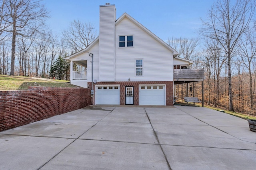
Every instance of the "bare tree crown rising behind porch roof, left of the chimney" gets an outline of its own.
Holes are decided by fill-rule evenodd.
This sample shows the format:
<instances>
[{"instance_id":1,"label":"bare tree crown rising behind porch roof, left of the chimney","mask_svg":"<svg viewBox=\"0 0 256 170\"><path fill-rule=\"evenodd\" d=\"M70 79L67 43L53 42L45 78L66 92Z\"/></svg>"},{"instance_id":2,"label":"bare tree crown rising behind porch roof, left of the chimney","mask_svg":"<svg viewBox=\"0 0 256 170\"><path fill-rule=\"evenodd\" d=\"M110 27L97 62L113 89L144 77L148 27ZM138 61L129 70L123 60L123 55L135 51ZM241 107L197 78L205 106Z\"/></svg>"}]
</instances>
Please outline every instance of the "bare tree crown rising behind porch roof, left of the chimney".
<instances>
[{"instance_id":1,"label":"bare tree crown rising behind porch roof, left of the chimney","mask_svg":"<svg viewBox=\"0 0 256 170\"><path fill-rule=\"evenodd\" d=\"M85 49L97 37L95 28L91 23L82 23L74 20L67 30L62 33L63 39L68 43L72 53Z\"/></svg>"}]
</instances>

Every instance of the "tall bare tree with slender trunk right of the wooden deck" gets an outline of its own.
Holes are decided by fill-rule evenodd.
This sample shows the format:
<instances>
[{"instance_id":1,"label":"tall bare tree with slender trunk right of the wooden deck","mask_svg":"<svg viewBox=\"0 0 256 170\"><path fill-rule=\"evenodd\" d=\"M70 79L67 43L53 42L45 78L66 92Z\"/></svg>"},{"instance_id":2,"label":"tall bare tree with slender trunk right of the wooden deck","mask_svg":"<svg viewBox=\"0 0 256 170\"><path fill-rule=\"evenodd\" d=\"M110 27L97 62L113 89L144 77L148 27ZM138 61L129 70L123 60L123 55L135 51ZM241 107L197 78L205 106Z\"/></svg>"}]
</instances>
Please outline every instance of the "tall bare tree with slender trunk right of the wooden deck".
<instances>
[{"instance_id":1,"label":"tall bare tree with slender trunk right of the wooden deck","mask_svg":"<svg viewBox=\"0 0 256 170\"><path fill-rule=\"evenodd\" d=\"M246 31L254 15L254 0L217 0L208 12L208 20L202 21L204 27L200 34L215 39L223 47L228 63L229 110L234 111L232 96L231 63L236 52L238 40Z\"/></svg>"}]
</instances>

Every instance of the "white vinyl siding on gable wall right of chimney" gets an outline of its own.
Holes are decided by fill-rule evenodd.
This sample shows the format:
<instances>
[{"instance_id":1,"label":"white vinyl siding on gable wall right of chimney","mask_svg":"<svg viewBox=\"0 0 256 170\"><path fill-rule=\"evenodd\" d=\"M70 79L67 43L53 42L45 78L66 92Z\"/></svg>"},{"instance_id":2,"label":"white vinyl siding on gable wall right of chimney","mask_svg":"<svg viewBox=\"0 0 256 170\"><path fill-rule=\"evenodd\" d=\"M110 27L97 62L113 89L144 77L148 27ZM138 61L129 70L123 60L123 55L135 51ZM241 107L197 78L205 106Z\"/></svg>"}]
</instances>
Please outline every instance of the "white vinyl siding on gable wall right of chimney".
<instances>
[{"instance_id":1,"label":"white vinyl siding on gable wall right of chimney","mask_svg":"<svg viewBox=\"0 0 256 170\"><path fill-rule=\"evenodd\" d=\"M116 47L119 35L134 35L134 47L116 48L116 81L173 81L173 53L169 49L127 18L116 25ZM136 59L143 59L143 77L134 74Z\"/></svg>"}]
</instances>

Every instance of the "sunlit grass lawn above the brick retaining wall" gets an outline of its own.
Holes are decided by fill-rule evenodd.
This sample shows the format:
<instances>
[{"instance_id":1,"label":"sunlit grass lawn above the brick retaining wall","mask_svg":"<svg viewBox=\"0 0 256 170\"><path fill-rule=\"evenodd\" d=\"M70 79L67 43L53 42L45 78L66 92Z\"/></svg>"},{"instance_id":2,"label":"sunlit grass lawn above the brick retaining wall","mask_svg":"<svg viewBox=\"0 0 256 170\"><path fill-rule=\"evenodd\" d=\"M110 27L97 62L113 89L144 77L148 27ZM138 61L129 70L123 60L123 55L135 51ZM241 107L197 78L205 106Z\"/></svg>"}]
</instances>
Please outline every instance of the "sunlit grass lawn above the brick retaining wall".
<instances>
[{"instance_id":1,"label":"sunlit grass lawn above the brick retaining wall","mask_svg":"<svg viewBox=\"0 0 256 170\"><path fill-rule=\"evenodd\" d=\"M28 86L77 87L65 80L0 75L0 90L28 90Z\"/></svg>"}]
</instances>

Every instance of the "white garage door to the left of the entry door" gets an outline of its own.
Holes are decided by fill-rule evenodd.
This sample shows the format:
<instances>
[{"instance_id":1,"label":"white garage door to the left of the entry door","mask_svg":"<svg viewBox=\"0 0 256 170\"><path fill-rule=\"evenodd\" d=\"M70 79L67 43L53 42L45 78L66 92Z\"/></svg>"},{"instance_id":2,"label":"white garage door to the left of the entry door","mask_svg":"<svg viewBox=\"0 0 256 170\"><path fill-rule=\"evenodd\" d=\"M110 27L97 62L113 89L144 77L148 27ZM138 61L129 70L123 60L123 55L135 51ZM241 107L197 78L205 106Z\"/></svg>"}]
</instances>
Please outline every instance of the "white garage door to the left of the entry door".
<instances>
[{"instance_id":1,"label":"white garage door to the left of the entry door","mask_svg":"<svg viewBox=\"0 0 256 170\"><path fill-rule=\"evenodd\" d=\"M95 104L120 104L119 86L96 86Z\"/></svg>"}]
</instances>

